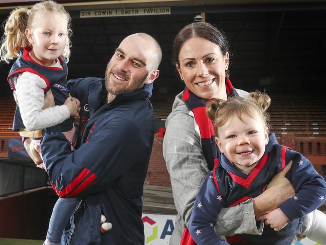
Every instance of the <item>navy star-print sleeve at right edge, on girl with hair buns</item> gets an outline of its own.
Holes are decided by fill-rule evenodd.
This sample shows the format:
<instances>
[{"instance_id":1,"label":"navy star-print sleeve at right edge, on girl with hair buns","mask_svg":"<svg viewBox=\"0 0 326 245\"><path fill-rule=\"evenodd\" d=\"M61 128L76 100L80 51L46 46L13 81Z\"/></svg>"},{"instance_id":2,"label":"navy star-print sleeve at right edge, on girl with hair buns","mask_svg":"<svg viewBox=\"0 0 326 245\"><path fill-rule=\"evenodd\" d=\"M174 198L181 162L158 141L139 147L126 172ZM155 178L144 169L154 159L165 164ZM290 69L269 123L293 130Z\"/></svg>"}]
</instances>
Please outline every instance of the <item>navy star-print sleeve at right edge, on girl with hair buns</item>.
<instances>
[{"instance_id":1,"label":"navy star-print sleeve at right edge, on girl with hair buns","mask_svg":"<svg viewBox=\"0 0 326 245\"><path fill-rule=\"evenodd\" d=\"M287 150L286 163L290 160L293 163L286 177L293 184L295 195L279 207L289 221L292 221L307 215L325 201L326 184L310 161L300 153Z\"/></svg>"}]
</instances>

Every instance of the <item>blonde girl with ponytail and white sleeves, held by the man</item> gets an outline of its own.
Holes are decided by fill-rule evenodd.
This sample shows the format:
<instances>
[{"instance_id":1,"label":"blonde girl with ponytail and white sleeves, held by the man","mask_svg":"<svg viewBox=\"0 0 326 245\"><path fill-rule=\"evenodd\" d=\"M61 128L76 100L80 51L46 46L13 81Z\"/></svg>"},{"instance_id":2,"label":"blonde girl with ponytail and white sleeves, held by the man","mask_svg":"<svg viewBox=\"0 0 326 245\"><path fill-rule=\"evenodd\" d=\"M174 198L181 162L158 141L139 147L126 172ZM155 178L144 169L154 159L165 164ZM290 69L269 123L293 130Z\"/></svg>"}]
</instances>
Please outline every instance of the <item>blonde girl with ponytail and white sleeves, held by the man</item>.
<instances>
[{"instance_id":1,"label":"blonde girl with ponytail and white sleeves, held by the man","mask_svg":"<svg viewBox=\"0 0 326 245\"><path fill-rule=\"evenodd\" d=\"M39 142L42 129L59 125L73 143L73 116L78 115L80 103L70 97L67 88L70 23L69 13L53 1L40 2L29 10L16 9L6 22L0 57L7 63L18 57L8 81L19 102L13 130L20 131L23 141L29 137ZM49 91L55 106L42 109ZM64 227L79 202L77 198L58 199L45 244L60 244Z\"/></svg>"}]
</instances>

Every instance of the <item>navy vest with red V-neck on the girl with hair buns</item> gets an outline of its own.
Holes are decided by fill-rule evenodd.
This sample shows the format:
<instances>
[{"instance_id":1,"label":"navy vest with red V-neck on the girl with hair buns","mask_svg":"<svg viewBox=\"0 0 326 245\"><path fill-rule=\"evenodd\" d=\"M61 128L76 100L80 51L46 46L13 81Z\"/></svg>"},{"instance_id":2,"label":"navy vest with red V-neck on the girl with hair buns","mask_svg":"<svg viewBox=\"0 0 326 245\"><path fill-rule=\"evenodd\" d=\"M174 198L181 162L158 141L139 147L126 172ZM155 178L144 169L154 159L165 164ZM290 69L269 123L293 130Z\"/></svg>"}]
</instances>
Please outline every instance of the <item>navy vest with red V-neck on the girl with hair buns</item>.
<instances>
[{"instance_id":1,"label":"navy vest with red V-neck on the girl with hair buns","mask_svg":"<svg viewBox=\"0 0 326 245\"><path fill-rule=\"evenodd\" d=\"M265 152L246 179L228 173L221 164L218 164L213 175L215 186L225 200L225 207L235 206L251 197L260 195L272 178L285 167L286 149L288 147L275 145L270 152ZM222 161L228 160L221 154L219 162ZM293 220L277 232L269 225L265 225L261 235L240 234L233 236L228 241L231 244L290 244L301 223L302 218ZM282 240L278 241L280 237Z\"/></svg>"}]
</instances>

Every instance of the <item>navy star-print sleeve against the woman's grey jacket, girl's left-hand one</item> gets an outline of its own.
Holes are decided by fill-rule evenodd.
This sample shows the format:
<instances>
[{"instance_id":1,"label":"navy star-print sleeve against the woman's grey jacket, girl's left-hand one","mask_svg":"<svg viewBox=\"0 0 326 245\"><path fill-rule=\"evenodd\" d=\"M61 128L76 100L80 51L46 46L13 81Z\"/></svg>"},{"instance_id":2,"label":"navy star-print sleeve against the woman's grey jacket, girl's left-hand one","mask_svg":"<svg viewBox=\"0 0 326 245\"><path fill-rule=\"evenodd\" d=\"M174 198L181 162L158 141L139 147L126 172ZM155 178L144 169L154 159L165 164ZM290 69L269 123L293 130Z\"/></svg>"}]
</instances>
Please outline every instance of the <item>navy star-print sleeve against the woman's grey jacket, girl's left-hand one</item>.
<instances>
[{"instance_id":1,"label":"navy star-print sleeve against the woman's grey jacket, girl's left-hand one","mask_svg":"<svg viewBox=\"0 0 326 245\"><path fill-rule=\"evenodd\" d=\"M224 206L224 200L215 186L213 173L209 172L196 198L189 220L189 232L198 245L229 244L214 230L217 215Z\"/></svg>"}]
</instances>

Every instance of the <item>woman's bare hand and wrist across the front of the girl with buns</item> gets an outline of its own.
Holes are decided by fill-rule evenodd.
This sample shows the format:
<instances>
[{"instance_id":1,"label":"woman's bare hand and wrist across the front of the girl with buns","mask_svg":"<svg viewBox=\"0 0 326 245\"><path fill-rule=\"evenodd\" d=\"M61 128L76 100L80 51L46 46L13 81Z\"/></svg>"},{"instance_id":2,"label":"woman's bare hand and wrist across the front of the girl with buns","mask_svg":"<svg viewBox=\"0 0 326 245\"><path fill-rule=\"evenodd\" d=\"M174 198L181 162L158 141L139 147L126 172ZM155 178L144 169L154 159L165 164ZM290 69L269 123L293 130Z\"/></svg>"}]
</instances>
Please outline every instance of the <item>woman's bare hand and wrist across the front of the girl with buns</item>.
<instances>
[{"instance_id":1,"label":"woman's bare hand and wrist across the front of the girl with buns","mask_svg":"<svg viewBox=\"0 0 326 245\"><path fill-rule=\"evenodd\" d=\"M266 190L253 199L254 212L257 220L263 220L264 214L276 209L288 198L294 196L294 188L285 175L291 169L292 161L284 169L274 176Z\"/></svg>"}]
</instances>

